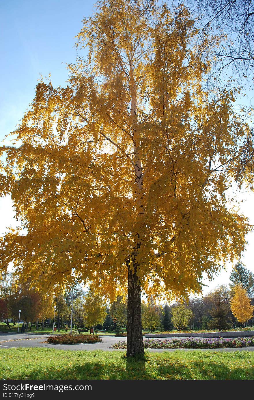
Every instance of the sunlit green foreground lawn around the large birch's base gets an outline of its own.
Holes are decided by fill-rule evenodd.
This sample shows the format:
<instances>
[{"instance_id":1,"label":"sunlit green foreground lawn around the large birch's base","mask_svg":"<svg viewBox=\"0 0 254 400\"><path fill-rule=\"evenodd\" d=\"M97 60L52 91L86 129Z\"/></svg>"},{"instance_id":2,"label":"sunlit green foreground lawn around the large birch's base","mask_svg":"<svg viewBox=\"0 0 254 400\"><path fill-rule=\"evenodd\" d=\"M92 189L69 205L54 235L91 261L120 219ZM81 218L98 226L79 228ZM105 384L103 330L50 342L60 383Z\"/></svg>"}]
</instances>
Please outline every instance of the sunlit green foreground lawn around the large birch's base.
<instances>
[{"instance_id":1,"label":"sunlit green foreground lawn around the large birch's base","mask_svg":"<svg viewBox=\"0 0 254 400\"><path fill-rule=\"evenodd\" d=\"M254 352L180 351L145 353L43 348L0 350L0 379L18 380L246 380L254 378Z\"/></svg>"}]
</instances>

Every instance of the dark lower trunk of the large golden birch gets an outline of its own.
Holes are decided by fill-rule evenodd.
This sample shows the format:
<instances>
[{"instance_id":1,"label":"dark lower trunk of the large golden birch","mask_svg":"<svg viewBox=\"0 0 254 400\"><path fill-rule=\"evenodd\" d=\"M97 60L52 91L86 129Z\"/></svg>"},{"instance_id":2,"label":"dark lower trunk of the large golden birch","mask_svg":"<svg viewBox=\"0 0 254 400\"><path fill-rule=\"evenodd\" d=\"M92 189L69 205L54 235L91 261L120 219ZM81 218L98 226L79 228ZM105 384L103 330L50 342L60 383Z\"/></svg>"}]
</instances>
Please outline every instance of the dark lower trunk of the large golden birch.
<instances>
[{"instance_id":1,"label":"dark lower trunk of the large golden birch","mask_svg":"<svg viewBox=\"0 0 254 400\"><path fill-rule=\"evenodd\" d=\"M128 303L127 303L127 357L144 357L144 344L141 323L140 284L134 270L128 266Z\"/></svg>"}]
</instances>

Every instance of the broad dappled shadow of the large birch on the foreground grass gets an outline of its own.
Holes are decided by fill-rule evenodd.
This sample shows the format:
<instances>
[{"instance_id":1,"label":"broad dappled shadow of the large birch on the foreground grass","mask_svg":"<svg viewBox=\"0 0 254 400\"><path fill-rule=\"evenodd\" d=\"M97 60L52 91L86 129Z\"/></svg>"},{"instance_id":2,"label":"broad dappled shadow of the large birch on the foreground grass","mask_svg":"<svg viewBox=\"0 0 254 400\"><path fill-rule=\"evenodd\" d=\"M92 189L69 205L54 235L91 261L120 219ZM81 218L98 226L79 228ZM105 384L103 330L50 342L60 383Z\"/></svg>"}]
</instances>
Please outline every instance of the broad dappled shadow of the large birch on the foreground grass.
<instances>
[{"instance_id":1,"label":"broad dappled shadow of the large birch on the foreground grass","mask_svg":"<svg viewBox=\"0 0 254 400\"><path fill-rule=\"evenodd\" d=\"M4 371L3 371L4 372ZM28 380L252 380L254 367L232 367L212 361L176 359L145 360L126 359L125 355L115 362L94 360L69 362L65 365L39 364L19 372L5 370L5 379Z\"/></svg>"}]
</instances>

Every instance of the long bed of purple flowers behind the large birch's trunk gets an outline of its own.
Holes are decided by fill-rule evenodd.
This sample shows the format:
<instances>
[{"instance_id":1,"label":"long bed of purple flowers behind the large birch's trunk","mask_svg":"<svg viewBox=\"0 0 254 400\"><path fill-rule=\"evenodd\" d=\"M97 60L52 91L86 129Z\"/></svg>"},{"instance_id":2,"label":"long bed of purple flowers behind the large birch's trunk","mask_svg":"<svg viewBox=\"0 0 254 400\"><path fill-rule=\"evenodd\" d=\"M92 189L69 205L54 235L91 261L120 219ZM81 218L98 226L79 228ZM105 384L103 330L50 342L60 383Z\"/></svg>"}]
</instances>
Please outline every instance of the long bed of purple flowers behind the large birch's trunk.
<instances>
[{"instance_id":1,"label":"long bed of purple flowers behind the large birch's trunk","mask_svg":"<svg viewBox=\"0 0 254 400\"><path fill-rule=\"evenodd\" d=\"M254 346L254 337L247 338L188 338L172 340L144 340L144 348L147 349L177 349L177 348L227 348L227 347L252 347ZM112 346L115 349L125 349L126 342L119 342Z\"/></svg>"}]
</instances>

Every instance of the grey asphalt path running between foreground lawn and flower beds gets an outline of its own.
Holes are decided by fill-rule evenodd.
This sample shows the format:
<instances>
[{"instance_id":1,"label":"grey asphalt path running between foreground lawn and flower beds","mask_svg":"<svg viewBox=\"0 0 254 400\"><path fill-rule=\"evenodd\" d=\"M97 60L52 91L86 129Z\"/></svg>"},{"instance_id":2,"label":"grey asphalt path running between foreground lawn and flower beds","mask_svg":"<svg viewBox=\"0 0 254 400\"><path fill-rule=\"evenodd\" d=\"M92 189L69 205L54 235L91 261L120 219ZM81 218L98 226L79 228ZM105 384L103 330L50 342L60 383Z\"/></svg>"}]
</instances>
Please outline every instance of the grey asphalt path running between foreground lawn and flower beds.
<instances>
[{"instance_id":1,"label":"grey asphalt path running between foreground lawn and flower beds","mask_svg":"<svg viewBox=\"0 0 254 400\"><path fill-rule=\"evenodd\" d=\"M18 348L18 347L44 347L55 348L58 350L106 350L106 351L126 351L125 349L112 349L115 343L127 340L127 338L116 338L112 335L99 335L102 342L89 344L52 344L46 342L48 334L30 334L30 333L1 333L0 348ZM145 339L145 337L143 337ZM46 343L44 343L46 342ZM193 351L194 349L180 349L181 351ZM201 351L254 351L254 347L222 348L222 349L200 349ZM149 352L172 352L175 349L148 349Z\"/></svg>"}]
</instances>

